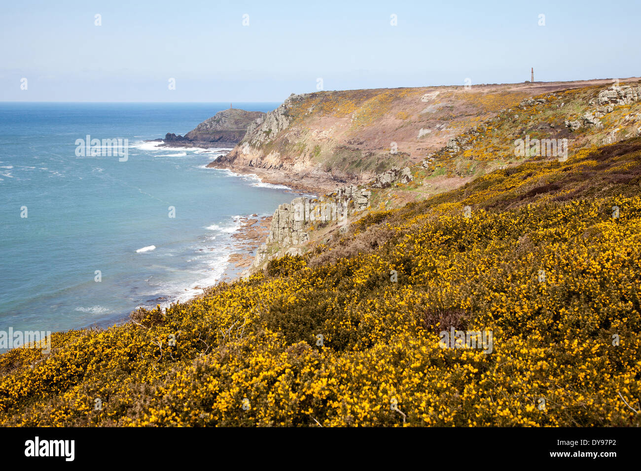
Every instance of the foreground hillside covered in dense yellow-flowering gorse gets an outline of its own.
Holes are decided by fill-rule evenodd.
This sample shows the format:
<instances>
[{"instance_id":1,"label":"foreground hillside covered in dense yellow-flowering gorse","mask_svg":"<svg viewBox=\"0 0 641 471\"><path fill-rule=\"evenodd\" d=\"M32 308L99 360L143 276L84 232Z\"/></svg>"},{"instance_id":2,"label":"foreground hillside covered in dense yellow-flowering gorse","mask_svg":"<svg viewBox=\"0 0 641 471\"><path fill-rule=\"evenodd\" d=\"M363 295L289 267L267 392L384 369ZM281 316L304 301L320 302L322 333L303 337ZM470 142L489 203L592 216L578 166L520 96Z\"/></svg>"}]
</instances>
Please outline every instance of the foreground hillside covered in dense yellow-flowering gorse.
<instances>
[{"instance_id":1,"label":"foreground hillside covered in dense yellow-flowering gorse","mask_svg":"<svg viewBox=\"0 0 641 471\"><path fill-rule=\"evenodd\" d=\"M640 243L641 138L515 162L202 299L1 355L0 423L639 426ZM491 330L492 352L441 348L451 327Z\"/></svg>"}]
</instances>

